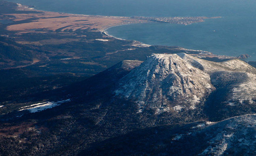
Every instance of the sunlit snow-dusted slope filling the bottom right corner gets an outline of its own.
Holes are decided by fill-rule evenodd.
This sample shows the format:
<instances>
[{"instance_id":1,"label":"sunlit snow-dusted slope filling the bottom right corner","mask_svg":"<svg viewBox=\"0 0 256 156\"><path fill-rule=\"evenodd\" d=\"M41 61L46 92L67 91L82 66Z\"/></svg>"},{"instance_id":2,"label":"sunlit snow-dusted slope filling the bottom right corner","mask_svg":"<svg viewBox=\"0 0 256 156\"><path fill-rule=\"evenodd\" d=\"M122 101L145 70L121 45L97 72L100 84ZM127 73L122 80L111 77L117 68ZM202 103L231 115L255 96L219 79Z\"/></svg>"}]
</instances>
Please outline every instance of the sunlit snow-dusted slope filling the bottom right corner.
<instances>
[{"instance_id":1,"label":"sunlit snow-dusted slope filling the bottom right corner","mask_svg":"<svg viewBox=\"0 0 256 156\"><path fill-rule=\"evenodd\" d=\"M210 125L207 128L217 126L222 130L220 130L219 133L209 141L209 146L206 147L199 155L221 156L230 147L246 147L248 150L247 152L255 151L255 115L256 114L235 116L223 121L214 122L213 125ZM202 130L202 132L204 131Z\"/></svg>"}]
</instances>

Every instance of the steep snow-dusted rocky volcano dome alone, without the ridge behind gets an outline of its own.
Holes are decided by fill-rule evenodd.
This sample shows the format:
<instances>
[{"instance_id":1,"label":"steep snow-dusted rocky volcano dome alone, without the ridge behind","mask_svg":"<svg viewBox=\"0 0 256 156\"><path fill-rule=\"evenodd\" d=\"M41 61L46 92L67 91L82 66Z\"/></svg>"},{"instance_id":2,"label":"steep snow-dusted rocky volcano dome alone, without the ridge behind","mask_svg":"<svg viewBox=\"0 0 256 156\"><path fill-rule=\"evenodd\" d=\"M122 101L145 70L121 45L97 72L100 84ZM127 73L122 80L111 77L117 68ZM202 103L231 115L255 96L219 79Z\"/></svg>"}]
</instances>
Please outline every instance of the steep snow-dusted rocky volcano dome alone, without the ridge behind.
<instances>
[{"instance_id":1,"label":"steep snow-dusted rocky volcano dome alone, without the ridge behind","mask_svg":"<svg viewBox=\"0 0 256 156\"><path fill-rule=\"evenodd\" d=\"M210 76L202 65L194 57L179 53L152 54L121 79L115 92L134 99L140 112L155 108L161 113L194 109L212 90Z\"/></svg>"}]
</instances>

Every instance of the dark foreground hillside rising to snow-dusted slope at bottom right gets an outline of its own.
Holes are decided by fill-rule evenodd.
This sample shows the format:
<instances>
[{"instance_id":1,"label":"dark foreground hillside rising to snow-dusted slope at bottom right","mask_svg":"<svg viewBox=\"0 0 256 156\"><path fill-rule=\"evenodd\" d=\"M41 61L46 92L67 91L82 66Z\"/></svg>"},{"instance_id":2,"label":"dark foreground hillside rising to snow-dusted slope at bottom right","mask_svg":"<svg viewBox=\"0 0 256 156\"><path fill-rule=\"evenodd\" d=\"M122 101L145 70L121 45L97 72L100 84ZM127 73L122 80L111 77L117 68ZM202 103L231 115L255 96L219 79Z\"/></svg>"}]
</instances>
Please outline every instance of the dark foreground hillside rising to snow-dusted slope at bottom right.
<instances>
[{"instance_id":1,"label":"dark foreground hillside rising to snow-dusted slope at bottom right","mask_svg":"<svg viewBox=\"0 0 256 156\"><path fill-rule=\"evenodd\" d=\"M116 156L254 156L255 125L256 114L248 114L219 122L157 126L108 139L84 153Z\"/></svg>"}]
</instances>

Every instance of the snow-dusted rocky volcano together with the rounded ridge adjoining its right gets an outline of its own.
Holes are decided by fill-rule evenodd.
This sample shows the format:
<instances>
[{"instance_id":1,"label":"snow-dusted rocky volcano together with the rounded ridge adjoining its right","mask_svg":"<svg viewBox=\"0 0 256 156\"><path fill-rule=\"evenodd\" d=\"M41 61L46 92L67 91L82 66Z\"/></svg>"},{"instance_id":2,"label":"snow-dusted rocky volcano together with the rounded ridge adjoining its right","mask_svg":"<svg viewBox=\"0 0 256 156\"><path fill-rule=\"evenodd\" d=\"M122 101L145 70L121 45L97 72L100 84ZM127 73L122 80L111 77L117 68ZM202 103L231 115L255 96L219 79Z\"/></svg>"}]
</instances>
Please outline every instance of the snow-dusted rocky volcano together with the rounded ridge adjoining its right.
<instances>
[{"instance_id":1,"label":"snow-dusted rocky volcano together with the rounded ridge adjoining its right","mask_svg":"<svg viewBox=\"0 0 256 156\"><path fill-rule=\"evenodd\" d=\"M256 69L233 59L211 62L185 53L152 54L119 81L116 96L134 100L138 112L194 110L206 101L255 106ZM225 106L226 106L225 105Z\"/></svg>"}]
</instances>

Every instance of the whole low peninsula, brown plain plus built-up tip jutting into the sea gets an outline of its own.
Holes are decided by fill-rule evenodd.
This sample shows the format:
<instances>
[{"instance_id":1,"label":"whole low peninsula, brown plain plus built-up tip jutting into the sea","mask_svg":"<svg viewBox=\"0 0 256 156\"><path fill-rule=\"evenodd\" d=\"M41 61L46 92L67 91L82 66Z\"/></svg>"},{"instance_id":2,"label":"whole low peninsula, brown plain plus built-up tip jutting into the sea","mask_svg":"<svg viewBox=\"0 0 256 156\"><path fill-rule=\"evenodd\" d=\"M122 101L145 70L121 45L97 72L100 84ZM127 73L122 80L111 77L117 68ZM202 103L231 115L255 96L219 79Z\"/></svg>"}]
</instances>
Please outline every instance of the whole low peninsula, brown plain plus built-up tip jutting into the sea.
<instances>
[{"instance_id":1,"label":"whole low peninsula, brown plain plus built-up tip jutting into the sea","mask_svg":"<svg viewBox=\"0 0 256 156\"><path fill-rule=\"evenodd\" d=\"M28 14L8 13L0 16L2 20L11 20L16 23L7 27L8 31L18 33L50 32L50 31L76 31L93 30L104 31L106 28L131 23L165 22L175 24L191 24L203 22L204 19L220 17L117 17L100 15L80 15L68 13L56 13L35 10L29 6L17 4L14 7L18 11L30 12Z\"/></svg>"}]
</instances>

